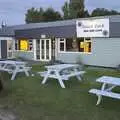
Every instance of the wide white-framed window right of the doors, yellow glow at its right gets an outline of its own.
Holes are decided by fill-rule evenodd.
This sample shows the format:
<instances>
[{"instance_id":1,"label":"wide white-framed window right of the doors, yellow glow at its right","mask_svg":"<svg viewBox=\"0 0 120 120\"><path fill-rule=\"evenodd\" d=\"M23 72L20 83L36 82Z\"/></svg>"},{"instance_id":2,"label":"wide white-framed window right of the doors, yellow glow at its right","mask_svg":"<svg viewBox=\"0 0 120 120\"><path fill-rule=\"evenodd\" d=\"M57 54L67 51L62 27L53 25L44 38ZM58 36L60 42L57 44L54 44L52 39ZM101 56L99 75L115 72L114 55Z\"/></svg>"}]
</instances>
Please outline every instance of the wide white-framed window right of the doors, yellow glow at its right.
<instances>
[{"instance_id":1,"label":"wide white-framed window right of the doors, yellow glow at its right","mask_svg":"<svg viewBox=\"0 0 120 120\"><path fill-rule=\"evenodd\" d=\"M60 39L59 51L64 52L91 52L91 38Z\"/></svg>"}]
</instances>

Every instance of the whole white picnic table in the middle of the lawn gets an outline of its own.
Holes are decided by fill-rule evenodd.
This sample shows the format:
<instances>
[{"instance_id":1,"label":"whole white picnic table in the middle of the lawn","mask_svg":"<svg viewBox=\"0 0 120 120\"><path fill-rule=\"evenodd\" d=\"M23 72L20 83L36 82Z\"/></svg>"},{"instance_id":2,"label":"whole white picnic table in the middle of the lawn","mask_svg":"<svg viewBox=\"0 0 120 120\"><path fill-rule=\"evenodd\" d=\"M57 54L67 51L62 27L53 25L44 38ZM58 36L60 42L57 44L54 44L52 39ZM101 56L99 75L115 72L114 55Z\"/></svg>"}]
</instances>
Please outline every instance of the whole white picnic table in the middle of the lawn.
<instances>
[{"instance_id":1,"label":"whole white picnic table in the middle of the lawn","mask_svg":"<svg viewBox=\"0 0 120 120\"><path fill-rule=\"evenodd\" d=\"M45 66L47 71L40 72L40 75L44 77L42 84L45 84L48 78L55 78L60 83L62 88L65 88L63 80L69 80L70 77L76 76L78 80L81 80L81 76L85 71L79 70L78 64L58 64Z\"/></svg>"}]
</instances>

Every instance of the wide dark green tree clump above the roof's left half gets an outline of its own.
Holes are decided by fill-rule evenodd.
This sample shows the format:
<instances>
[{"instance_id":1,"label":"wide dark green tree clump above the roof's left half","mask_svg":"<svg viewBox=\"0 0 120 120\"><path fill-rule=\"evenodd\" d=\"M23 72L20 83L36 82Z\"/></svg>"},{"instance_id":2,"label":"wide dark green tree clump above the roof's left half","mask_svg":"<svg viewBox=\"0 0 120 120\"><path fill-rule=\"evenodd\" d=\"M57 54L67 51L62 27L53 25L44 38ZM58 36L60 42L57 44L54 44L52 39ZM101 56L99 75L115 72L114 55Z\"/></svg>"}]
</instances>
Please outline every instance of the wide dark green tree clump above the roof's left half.
<instances>
[{"instance_id":1,"label":"wide dark green tree clump above the roof's left half","mask_svg":"<svg viewBox=\"0 0 120 120\"><path fill-rule=\"evenodd\" d=\"M44 21L56 21L61 19L61 14L53 8L43 10L43 8L31 8L27 10L25 15L26 23L39 23Z\"/></svg>"}]
</instances>

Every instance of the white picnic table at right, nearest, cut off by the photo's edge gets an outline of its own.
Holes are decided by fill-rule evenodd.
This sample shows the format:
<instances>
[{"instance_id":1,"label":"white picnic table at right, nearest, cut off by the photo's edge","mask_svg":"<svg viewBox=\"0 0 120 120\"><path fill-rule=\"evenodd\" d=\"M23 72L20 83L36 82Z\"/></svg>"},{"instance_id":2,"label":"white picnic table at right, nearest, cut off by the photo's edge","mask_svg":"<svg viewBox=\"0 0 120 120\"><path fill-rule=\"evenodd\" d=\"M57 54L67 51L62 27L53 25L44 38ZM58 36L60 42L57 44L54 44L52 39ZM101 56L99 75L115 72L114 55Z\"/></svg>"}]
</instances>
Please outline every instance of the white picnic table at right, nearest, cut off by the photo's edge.
<instances>
[{"instance_id":1,"label":"white picnic table at right, nearest, cut off by the photo's edge","mask_svg":"<svg viewBox=\"0 0 120 120\"><path fill-rule=\"evenodd\" d=\"M89 92L96 94L98 96L97 104L99 105L102 99L102 96L111 97L115 99L120 99L120 93L112 92L112 90L120 86L120 78L110 77L110 76L102 76L96 80L96 82L102 83L102 87L100 90L91 89Z\"/></svg>"}]
</instances>

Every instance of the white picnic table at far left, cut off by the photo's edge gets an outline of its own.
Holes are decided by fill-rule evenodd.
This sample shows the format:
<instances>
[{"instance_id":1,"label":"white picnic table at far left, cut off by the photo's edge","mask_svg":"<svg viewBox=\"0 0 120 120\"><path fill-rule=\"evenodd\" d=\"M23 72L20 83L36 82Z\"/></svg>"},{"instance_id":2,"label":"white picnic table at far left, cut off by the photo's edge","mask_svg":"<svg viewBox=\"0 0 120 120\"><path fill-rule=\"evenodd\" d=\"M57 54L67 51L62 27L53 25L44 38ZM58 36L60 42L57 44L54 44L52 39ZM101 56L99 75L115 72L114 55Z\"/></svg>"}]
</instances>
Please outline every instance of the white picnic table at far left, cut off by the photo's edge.
<instances>
[{"instance_id":1,"label":"white picnic table at far left, cut off by the photo's edge","mask_svg":"<svg viewBox=\"0 0 120 120\"><path fill-rule=\"evenodd\" d=\"M26 66L25 62L13 61L13 60L1 60L0 71L6 71L12 74L11 80L14 80L17 73L24 72L26 76L29 76L29 70L31 68Z\"/></svg>"}]
</instances>

